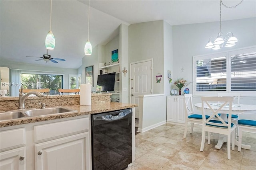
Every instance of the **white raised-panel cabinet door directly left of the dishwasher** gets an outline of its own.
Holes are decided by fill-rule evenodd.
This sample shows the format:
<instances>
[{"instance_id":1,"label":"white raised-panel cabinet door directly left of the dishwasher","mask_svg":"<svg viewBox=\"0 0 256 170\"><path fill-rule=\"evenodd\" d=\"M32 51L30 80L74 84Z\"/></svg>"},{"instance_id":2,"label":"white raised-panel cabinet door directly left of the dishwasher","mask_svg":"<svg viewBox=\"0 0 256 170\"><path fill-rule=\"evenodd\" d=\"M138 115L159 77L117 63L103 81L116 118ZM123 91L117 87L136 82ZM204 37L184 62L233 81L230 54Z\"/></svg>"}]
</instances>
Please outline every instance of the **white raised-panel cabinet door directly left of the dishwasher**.
<instances>
[{"instance_id":1,"label":"white raised-panel cabinet door directly left of the dishwasher","mask_svg":"<svg viewBox=\"0 0 256 170\"><path fill-rule=\"evenodd\" d=\"M89 170L89 132L35 145L36 170Z\"/></svg>"}]
</instances>

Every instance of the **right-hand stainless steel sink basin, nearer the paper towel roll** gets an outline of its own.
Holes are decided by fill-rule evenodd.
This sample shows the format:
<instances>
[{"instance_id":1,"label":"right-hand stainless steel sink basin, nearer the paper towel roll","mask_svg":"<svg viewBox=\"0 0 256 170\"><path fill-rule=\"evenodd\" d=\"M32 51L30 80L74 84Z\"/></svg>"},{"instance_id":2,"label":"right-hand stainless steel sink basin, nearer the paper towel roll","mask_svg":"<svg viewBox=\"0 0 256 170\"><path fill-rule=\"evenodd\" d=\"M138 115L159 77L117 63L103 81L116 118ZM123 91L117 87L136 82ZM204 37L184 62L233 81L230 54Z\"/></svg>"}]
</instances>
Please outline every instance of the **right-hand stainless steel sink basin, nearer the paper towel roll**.
<instances>
[{"instance_id":1,"label":"right-hand stainless steel sink basin, nearer the paper towel roll","mask_svg":"<svg viewBox=\"0 0 256 170\"><path fill-rule=\"evenodd\" d=\"M50 107L46 109L34 109L34 110L27 110L25 114L28 116L42 116L42 115L51 115L51 114L58 114L58 113L75 113L75 110L66 109L63 107Z\"/></svg>"}]
</instances>

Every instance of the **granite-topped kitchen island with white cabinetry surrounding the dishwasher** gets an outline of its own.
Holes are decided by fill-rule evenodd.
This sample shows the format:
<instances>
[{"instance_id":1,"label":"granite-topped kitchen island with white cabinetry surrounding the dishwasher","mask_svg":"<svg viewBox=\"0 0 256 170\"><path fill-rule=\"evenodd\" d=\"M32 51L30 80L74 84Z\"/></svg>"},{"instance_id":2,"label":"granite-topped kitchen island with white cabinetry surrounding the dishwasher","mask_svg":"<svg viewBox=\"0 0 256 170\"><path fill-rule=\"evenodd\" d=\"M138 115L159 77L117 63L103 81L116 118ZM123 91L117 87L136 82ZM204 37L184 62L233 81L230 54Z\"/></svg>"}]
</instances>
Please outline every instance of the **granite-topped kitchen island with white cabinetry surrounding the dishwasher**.
<instances>
[{"instance_id":1,"label":"granite-topped kitchen island with white cabinetry surrounding the dishwasher","mask_svg":"<svg viewBox=\"0 0 256 170\"><path fill-rule=\"evenodd\" d=\"M29 97L27 108L38 105L37 97ZM92 103L89 106L77 104L78 97L71 105L49 102L51 107L64 107L75 110L72 113L56 113L42 116L21 117L0 121L0 169L14 167L26 169L92 169L91 148L91 114L132 108L135 104L117 102ZM56 96L51 100L66 100L67 97ZM7 101L8 99L4 99ZM14 99L16 100L16 99ZM34 100L37 100L34 102ZM42 99L40 99L42 100ZM108 100L108 99L107 99ZM16 105L15 101L10 102ZM11 104L11 105L12 105ZM9 105L9 106L11 106ZM16 106L15 106L16 107ZM48 106L46 105L46 108ZM10 108L10 107L9 107ZM38 106L37 106L38 109ZM0 113L1 114L1 113ZM135 160L135 116L132 116L132 161Z\"/></svg>"}]
</instances>

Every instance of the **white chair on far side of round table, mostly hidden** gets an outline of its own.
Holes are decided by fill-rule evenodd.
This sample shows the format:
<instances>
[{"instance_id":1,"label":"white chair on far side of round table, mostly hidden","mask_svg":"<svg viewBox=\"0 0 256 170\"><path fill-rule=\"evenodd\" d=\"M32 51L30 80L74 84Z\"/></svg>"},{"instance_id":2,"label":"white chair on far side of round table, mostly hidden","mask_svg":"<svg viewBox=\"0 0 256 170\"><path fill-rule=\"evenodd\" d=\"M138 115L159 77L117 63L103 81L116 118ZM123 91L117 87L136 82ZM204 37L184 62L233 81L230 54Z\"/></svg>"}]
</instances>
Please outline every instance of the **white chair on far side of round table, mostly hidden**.
<instances>
[{"instance_id":1,"label":"white chair on far side of round table, mostly hidden","mask_svg":"<svg viewBox=\"0 0 256 170\"><path fill-rule=\"evenodd\" d=\"M240 96L241 93L218 93L217 94L219 97L234 97L234 101L232 102L232 104L236 105L236 106L240 106ZM227 117L229 115L227 114ZM235 129L235 134L236 136L239 136L238 134L238 126L237 126L237 121L238 121L238 115L236 114L231 114L231 122L236 124L236 129Z\"/></svg>"}]
</instances>

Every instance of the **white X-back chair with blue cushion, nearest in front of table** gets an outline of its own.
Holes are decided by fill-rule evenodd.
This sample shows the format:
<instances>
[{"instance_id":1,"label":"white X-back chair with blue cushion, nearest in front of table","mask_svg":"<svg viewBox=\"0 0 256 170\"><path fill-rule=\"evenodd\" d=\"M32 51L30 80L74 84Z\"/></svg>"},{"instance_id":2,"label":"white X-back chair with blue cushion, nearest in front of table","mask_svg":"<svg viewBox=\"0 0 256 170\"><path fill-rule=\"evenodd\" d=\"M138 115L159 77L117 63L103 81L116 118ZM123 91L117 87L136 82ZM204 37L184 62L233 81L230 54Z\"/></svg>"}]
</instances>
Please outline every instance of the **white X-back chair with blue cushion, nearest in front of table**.
<instances>
[{"instance_id":1,"label":"white X-back chair with blue cushion, nearest in front of table","mask_svg":"<svg viewBox=\"0 0 256 170\"><path fill-rule=\"evenodd\" d=\"M225 121L224 118L220 117L218 113L223 113L221 111L222 107L229 104L228 114L231 115L232 113L232 102L234 100L233 97L212 97L212 96L202 96L202 141L200 151L204 151L204 143L205 143L205 133L212 132L212 133L219 133L222 135L227 135L227 153L228 159L231 159L230 153L230 143L232 143L232 150L235 150L235 134L234 130L236 129L236 125L231 122L231 116L228 117L228 121ZM214 110L211 106L211 102L218 103L220 102L220 107L217 110ZM206 119L206 107L207 110L211 112L210 118ZM213 120L212 118L215 118ZM216 120L217 119L217 120ZM208 144L210 144L210 134L208 133Z\"/></svg>"}]
</instances>

